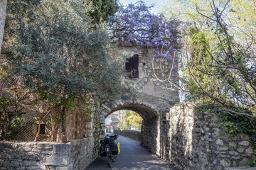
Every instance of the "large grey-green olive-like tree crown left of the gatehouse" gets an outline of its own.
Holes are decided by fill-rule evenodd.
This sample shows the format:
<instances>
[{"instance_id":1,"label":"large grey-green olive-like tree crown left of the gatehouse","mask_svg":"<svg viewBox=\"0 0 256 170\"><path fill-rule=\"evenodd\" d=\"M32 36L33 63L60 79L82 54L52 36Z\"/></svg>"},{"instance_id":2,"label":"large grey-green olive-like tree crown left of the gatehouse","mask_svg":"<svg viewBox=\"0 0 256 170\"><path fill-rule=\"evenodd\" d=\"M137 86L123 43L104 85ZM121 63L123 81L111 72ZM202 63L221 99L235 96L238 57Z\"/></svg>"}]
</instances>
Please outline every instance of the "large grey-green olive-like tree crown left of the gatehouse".
<instances>
[{"instance_id":1,"label":"large grey-green olive-like tree crown left of the gatehouse","mask_svg":"<svg viewBox=\"0 0 256 170\"><path fill-rule=\"evenodd\" d=\"M22 13L14 7L22 8ZM124 60L110 55L104 25L92 31L92 19L86 14L90 10L78 0L9 1L3 54L11 65L11 77L21 77L39 98L71 108L82 93L109 99L126 92L120 67Z\"/></svg>"}]
</instances>

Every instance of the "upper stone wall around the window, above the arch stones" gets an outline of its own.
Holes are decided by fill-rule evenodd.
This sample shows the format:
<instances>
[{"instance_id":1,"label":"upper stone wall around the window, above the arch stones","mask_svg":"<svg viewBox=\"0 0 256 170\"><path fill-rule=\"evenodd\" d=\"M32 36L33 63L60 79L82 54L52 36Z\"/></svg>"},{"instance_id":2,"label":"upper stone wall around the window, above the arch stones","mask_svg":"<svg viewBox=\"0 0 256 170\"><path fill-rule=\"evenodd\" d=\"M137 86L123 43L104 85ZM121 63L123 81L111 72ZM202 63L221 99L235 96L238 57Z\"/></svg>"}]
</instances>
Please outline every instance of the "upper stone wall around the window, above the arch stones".
<instances>
[{"instance_id":1,"label":"upper stone wall around the window, above the arch stones","mask_svg":"<svg viewBox=\"0 0 256 170\"><path fill-rule=\"evenodd\" d=\"M139 56L139 78L128 79L129 84L134 88L134 96L127 96L129 100L136 100L151 108L158 108L157 110L163 110L174 106L179 102L178 89L171 87L171 84L166 81L159 81L154 75L154 70L157 76L161 77L159 62L152 64L152 58L154 58L154 48L139 48L136 45L125 45L116 47L112 50L114 56L125 56L127 58L134 55ZM171 72L170 68L172 62L166 60L162 64L165 65L164 72ZM154 65L154 70L153 70ZM177 65L177 63L175 63ZM172 70L172 81L179 84L178 80L178 67L174 67ZM169 88L174 88L170 90ZM171 97L170 97L171 96Z\"/></svg>"}]
</instances>

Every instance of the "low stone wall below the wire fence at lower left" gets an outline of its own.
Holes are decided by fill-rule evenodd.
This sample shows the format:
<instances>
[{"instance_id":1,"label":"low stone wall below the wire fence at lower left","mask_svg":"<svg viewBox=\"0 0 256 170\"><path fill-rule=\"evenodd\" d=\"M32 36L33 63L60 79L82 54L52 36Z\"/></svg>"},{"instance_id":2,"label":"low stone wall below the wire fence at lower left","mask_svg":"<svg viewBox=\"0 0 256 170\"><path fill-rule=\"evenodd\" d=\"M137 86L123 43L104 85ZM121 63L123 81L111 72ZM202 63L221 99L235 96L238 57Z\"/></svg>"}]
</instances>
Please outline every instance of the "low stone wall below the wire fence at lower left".
<instances>
[{"instance_id":1,"label":"low stone wall below the wire fence at lower left","mask_svg":"<svg viewBox=\"0 0 256 170\"><path fill-rule=\"evenodd\" d=\"M92 137L65 143L0 142L0 169L84 170L92 162Z\"/></svg>"}]
</instances>

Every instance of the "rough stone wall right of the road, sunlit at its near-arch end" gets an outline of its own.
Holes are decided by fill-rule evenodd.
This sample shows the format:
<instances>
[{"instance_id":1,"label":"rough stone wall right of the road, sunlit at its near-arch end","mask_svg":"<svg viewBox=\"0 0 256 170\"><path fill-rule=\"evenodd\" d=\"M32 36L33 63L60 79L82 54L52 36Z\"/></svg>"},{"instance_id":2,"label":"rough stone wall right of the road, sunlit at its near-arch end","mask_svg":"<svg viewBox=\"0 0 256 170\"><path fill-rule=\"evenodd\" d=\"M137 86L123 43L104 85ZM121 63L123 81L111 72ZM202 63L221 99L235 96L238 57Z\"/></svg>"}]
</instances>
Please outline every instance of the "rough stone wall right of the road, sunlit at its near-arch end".
<instances>
[{"instance_id":1,"label":"rough stone wall right of the road, sunlit at its near-arch end","mask_svg":"<svg viewBox=\"0 0 256 170\"><path fill-rule=\"evenodd\" d=\"M255 157L247 135L230 137L218 127L218 116L196 115L193 106L174 106L166 115L165 159L178 169L227 169L248 166ZM161 155L163 157L163 155ZM256 169L256 167L255 167Z\"/></svg>"}]
</instances>

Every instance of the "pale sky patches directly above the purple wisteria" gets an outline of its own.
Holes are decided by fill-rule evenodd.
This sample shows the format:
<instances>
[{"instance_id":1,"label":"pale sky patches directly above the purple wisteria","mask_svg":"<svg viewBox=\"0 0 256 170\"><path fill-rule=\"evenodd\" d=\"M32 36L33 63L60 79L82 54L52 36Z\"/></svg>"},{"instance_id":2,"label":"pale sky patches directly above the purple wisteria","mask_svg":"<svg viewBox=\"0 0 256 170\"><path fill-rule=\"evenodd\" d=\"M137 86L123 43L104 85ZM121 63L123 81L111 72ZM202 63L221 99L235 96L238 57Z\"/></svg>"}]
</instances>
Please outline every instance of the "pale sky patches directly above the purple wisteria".
<instances>
[{"instance_id":1,"label":"pale sky patches directly above the purple wisteria","mask_svg":"<svg viewBox=\"0 0 256 170\"><path fill-rule=\"evenodd\" d=\"M134 4L137 1L139 0L119 0L119 2L124 6L127 6L128 4L131 4L131 3ZM168 0L142 0L142 1L144 1L144 3L147 6L151 6L152 4L154 4L154 8L152 8L151 12L155 14L161 11L162 6L168 4L167 3Z\"/></svg>"}]
</instances>

